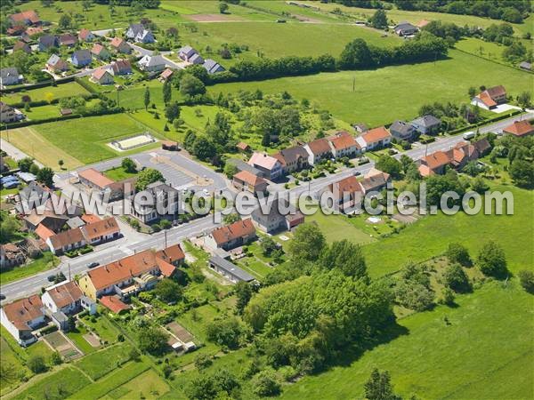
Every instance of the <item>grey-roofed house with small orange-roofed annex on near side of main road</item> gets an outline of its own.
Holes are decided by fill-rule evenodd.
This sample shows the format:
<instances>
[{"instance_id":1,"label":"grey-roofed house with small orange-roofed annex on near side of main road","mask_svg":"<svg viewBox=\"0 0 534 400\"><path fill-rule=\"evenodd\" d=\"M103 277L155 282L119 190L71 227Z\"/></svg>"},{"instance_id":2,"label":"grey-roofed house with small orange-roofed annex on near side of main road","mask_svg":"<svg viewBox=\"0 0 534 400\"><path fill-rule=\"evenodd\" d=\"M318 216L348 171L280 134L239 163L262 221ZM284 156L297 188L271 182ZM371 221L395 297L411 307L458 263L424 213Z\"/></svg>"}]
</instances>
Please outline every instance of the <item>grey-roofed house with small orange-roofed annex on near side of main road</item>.
<instances>
[{"instance_id":1,"label":"grey-roofed house with small orange-roofed annex on near side of main road","mask_svg":"<svg viewBox=\"0 0 534 400\"><path fill-rule=\"evenodd\" d=\"M263 213L262 208L265 208ZM304 221L302 212L295 209L285 199L275 199L264 207L258 207L251 214L255 226L265 233L278 230L291 230Z\"/></svg>"}]
</instances>

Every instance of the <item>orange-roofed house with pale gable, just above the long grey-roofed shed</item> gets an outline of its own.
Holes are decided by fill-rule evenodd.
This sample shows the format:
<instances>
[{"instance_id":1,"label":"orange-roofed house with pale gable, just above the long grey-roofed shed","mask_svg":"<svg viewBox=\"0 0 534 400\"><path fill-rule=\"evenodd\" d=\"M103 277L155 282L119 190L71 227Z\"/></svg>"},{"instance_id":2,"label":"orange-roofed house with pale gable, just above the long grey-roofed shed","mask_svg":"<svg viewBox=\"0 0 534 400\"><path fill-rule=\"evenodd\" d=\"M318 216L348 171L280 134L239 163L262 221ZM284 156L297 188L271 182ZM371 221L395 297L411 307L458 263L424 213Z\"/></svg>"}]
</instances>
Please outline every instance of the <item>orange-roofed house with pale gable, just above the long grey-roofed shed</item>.
<instances>
[{"instance_id":1,"label":"orange-roofed house with pale gable, just above the long grey-roofed shed","mask_svg":"<svg viewBox=\"0 0 534 400\"><path fill-rule=\"evenodd\" d=\"M204 245L211 249L231 250L248 244L256 238L254 224L249 218L216 228L204 238Z\"/></svg>"}]
</instances>

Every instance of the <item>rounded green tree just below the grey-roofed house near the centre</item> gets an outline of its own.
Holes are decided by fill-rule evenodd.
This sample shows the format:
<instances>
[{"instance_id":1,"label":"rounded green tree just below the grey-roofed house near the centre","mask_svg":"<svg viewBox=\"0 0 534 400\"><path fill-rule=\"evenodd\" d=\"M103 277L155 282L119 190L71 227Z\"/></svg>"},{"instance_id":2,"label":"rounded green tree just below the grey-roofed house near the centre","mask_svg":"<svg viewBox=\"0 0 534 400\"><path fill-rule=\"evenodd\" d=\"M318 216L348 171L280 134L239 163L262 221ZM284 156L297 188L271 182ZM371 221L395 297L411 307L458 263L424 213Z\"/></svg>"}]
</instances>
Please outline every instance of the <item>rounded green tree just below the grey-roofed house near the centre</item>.
<instances>
[{"instance_id":1,"label":"rounded green tree just below the grey-roofed house near the centre","mask_svg":"<svg viewBox=\"0 0 534 400\"><path fill-rule=\"evenodd\" d=\"M295 236L287 251L292 260L318 260L327 244L320 228L315 224L304 223L295 230Z\"/></svg>"}]
</instances>

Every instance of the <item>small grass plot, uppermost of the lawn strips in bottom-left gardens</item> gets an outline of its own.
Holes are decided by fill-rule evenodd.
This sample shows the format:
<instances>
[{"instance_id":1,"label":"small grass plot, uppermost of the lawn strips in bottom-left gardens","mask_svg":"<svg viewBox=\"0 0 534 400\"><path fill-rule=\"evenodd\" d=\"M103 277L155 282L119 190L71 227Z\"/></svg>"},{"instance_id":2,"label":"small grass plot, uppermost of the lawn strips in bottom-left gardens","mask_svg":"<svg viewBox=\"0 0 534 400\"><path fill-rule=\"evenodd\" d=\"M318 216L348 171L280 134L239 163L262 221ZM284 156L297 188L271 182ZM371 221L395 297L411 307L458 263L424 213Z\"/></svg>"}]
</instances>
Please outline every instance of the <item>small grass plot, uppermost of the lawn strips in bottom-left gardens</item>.
<instances>
[{"instance_id":1,"label":"small grass plot, uppermost of the lawn strips in bottom-left gardens","mask_svg":"<svg viewBox=\"0 0 534 400\"><path fill-rule=\"evenodd\" d=\"M113 371L118 365L124 364L130 359L130 345L118 344L94 352L77 361L76 365L93 380L98 380L106 373Z\"/></svg>"}]
</instances>

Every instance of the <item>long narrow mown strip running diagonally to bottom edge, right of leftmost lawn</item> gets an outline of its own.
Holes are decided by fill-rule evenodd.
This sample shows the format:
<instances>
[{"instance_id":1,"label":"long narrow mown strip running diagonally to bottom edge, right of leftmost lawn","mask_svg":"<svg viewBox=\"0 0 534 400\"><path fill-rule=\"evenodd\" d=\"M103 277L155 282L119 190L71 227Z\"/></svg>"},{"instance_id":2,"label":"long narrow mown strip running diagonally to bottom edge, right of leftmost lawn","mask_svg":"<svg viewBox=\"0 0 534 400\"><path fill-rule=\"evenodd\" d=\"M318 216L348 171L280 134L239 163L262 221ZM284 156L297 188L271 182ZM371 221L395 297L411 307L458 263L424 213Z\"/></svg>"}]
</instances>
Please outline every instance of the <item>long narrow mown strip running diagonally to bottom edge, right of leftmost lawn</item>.
<instances>
[{"instance_id":1,"label":"long narrow mown strip running diagonally to bottom edge, right of leftmost lawn","mask_svg":"<svg viewBox=\"0 0 534 400\"><path fill-rule=\"evenodd\" d=\"M114 389L121 387L121 385L127 384L127 382L131 380L134 380L135 377L140 375L142 372L145 372L147 369L149 369L149 366L144 363L126 363L122 367L117 368L115 371L109 372L108 375L103 377L101 380L98 380L97 383L86 386L69 398L73 400L97 399L110 394L109 392L115 393Z\"/></svg>"}]
</instances>

